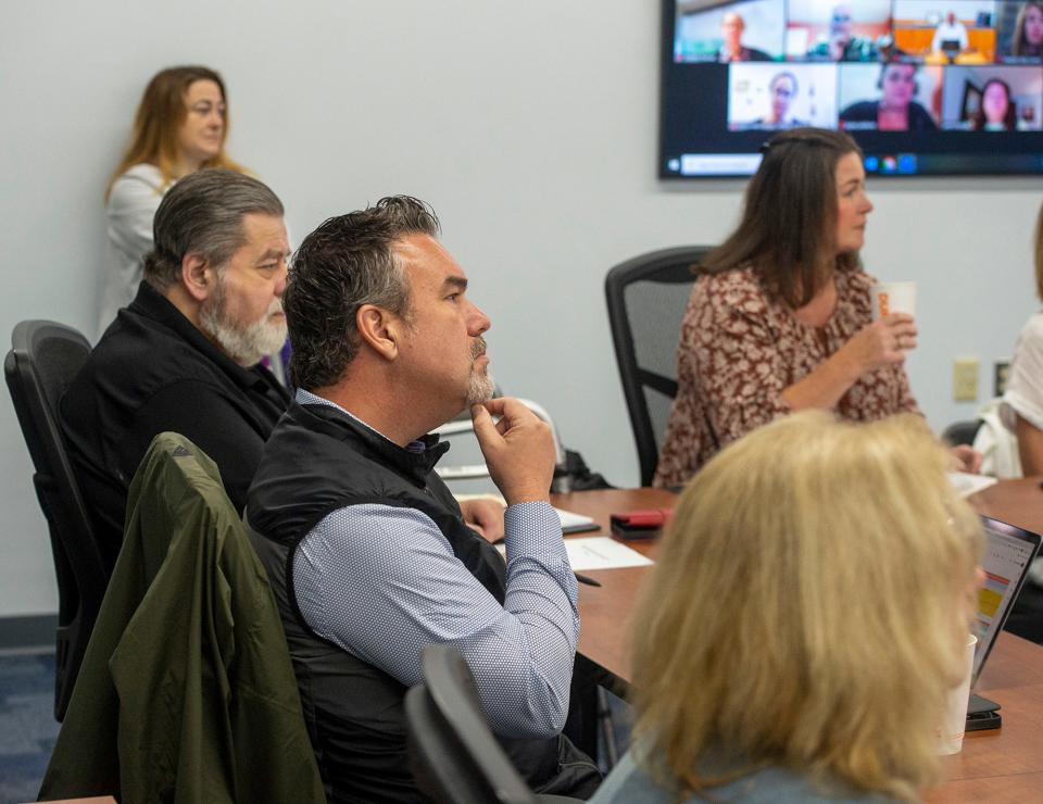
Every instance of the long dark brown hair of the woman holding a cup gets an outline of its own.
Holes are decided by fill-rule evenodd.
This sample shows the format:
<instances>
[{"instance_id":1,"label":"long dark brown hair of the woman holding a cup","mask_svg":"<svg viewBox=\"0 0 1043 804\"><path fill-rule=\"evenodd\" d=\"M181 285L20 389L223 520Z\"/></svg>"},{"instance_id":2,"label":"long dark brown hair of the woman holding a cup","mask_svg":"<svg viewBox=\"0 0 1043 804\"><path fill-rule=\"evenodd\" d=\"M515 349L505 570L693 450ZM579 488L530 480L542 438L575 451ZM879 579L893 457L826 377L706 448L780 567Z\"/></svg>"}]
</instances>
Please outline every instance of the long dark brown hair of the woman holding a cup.
<instances>
[{"instance_id":1,"label":"long dark brown hair of the woman holding a cup","mask_svg":"<svg viewBox=\"0 0 1043 804\"><path fill-rule=\"evenodd\" d=\"M703 261L700 271L719 274L752 265L769 296L794 310L828 281L829 251L837 227L837 163L862 155L842 131L793 128L762 148L764 159L746 187L742 219ZM837 257L839 271L854 271L857 253Z\"/></svg>"}]
</instances>

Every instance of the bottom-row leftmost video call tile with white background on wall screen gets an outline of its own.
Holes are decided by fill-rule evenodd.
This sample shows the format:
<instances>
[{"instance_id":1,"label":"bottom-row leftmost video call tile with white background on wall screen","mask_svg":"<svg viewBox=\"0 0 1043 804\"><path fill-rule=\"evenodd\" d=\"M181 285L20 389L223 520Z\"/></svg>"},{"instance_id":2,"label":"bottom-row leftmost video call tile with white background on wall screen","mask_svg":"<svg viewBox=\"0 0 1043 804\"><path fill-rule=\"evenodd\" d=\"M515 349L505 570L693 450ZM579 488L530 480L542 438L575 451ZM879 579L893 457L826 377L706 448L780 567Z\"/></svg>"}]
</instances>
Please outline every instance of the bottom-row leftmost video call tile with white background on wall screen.
<instances>
[{"instance_id":1,"label":"bottom-row leftmost video call tile with white background on wall screen","mask_svg":"<svg viewBox=\"0 0 1043 804\"><path fill-rule=\"evenodd\" d=\"M728 128L780 130L837 127L837 67L832 64L732 64L728 68Z\"/></svg>"}]
</instances>

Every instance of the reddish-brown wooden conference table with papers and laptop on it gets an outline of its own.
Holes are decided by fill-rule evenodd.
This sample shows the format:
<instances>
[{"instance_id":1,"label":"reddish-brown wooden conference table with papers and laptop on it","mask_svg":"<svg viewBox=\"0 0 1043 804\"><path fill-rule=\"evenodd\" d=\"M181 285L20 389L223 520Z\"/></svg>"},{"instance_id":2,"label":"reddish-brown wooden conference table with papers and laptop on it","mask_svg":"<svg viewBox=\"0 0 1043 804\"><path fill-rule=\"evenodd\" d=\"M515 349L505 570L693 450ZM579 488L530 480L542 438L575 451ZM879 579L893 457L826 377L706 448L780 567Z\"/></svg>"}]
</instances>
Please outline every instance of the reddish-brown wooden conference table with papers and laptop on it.
<instances>
[{"instance_id":1,"label":"reddish-brown wooden conference table with papers and laptop on it","mask_svg":"<svg viewBox=\"0 0 1043 804\"><path fill-rule=\"evenodd\" d=\"M606 489L556 494L554 505L586 514L610 535L613 512L671 508L677 497L661 489ZM1001 480L968 498L980 513L1043 532L1040 478ZM592 536L596 533L581 533ZM574 537L568 537L574 538ZM654 540L626 542L655 558ZM626 698L630 659L630 613L649 566L582 570L601 583L579 587L579 654L591 663L598 681ZM976 691L1001 704L1003 727L968 732L959 754L942 759L943 781L928 802L1043 802L1043 646L1003 632Z\"/></svg>"}]
</instances>

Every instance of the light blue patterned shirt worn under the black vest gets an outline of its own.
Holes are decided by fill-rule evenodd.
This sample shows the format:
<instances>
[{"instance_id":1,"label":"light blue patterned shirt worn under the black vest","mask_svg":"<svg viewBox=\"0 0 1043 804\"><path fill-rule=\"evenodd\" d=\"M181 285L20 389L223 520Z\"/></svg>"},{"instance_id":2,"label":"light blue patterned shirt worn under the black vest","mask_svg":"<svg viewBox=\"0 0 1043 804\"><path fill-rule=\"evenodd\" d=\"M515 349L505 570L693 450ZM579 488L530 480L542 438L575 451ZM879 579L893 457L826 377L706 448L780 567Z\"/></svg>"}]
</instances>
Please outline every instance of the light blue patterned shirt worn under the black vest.
<instances>
[{"instance_id":1,"label":"light blue patterned shirt worn under the black vest","mask_svg":"<svg viewBox=\"0 0 1043 804\"><path fill-rule=\"evenodd\" d=\"M297 401L351 415L304 390ZM420 442L406 449L417 447L423 449ZM424 645L455 645L497 733L554 736L568 714L579 637L576 578L549 504L508 506L504 529L508 562L501 606L426 514L382 504L339 508L298 547L298 606L318 636L407 687L423 680Z\"/></svg>"}]
</instances>

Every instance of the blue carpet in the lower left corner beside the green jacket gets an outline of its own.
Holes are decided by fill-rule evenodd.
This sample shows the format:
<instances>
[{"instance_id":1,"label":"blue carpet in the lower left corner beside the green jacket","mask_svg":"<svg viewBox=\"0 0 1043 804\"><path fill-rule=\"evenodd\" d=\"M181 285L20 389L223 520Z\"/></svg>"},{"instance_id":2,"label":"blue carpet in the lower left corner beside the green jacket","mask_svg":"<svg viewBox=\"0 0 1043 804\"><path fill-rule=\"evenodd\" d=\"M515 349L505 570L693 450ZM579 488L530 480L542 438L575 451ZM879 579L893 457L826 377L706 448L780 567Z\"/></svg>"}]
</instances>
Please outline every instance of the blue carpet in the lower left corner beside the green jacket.
<instances>
[{"instance_id":1,"label":"blue carpet in the lower left corner beside the green jacket","mask_svg":"<svg viewBox=\"0 0 1043 804\"><path fill-rule=\"evenodd\" d=\"M0 652L0 802L36 801L58 738L54 652Z\"/></svg>"}]
</instances>

